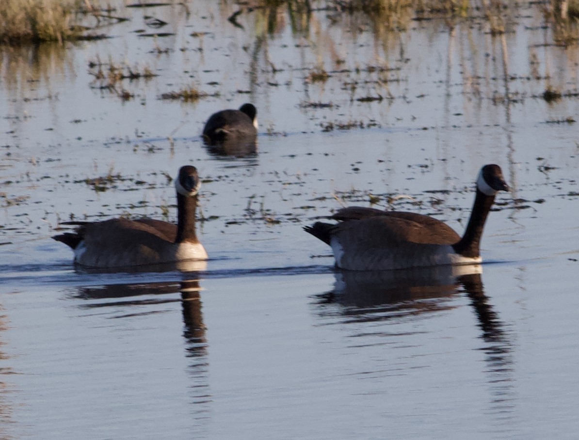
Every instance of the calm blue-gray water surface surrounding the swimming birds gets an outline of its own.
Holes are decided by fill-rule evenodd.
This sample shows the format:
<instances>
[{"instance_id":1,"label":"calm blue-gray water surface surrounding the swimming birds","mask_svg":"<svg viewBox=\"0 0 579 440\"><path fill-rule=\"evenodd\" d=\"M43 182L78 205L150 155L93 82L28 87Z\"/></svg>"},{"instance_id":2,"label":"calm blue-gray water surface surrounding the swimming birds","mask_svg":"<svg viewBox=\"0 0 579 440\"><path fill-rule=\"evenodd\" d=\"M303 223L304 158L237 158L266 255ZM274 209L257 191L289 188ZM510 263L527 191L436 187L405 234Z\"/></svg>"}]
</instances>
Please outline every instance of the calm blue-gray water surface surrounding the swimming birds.
<instances>
[{"instance_id":1,"label":"calm blue-gray water surface surrounding the swimming birds","mask_svg":"<svg viewBox=\"0 0 579 440\"><path fill-rule=\"evenodd\" d=\"M233 6L188 5L122 8L131 21L101 42L3 49L0 437L575 438L576 50L549 45L531 6L493 36L325 11L302 28L285 8L241 29ZM175 35L131 33L147 14ZM159 76L123 80L122 101L89 74L97 57ZM331 77L311 82L320 65ZM192 85L221 95L159 99ZM207 149L207 116L245 101L258 152ZM187 163L205 179L205 267L75 271L50 239L71 215L174 220L166 174ZM335 272L301 229L373 195L462 232L485 163L512 192L482 266ZM86 180L107 175L104 191Z\"/></svg>"}]
</instances>

